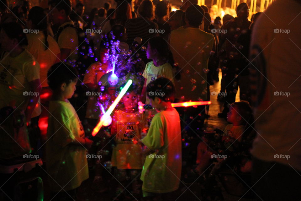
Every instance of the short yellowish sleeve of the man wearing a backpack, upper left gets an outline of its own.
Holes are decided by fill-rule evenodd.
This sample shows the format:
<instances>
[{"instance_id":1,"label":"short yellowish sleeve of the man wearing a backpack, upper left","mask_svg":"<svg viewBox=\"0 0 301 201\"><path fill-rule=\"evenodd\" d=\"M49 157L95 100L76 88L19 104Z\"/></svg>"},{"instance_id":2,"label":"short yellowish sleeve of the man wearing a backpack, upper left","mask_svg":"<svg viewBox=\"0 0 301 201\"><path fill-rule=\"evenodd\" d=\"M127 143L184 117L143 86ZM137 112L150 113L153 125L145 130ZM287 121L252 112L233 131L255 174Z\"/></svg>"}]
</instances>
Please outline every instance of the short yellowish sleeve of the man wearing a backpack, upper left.
<instances>
[{"instance_id":1,"label":"short yellowish sleeve of the man wearing a backpack, upper left","mask_svg":"<svg viewBox=\"0 0 301 201\"><path fill-rule=\"evenodd\" d=\"M74 43L78 46L77 31L72 27L65 28L59 36L57 44L60 49L73 49Z\"/></svg>"}]
</instances>

